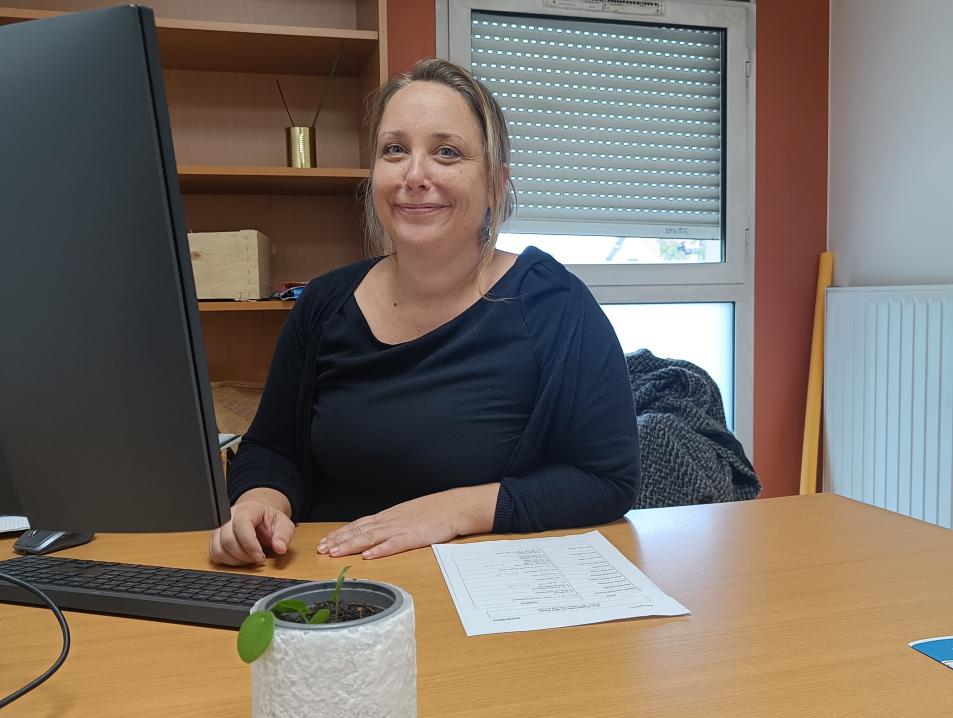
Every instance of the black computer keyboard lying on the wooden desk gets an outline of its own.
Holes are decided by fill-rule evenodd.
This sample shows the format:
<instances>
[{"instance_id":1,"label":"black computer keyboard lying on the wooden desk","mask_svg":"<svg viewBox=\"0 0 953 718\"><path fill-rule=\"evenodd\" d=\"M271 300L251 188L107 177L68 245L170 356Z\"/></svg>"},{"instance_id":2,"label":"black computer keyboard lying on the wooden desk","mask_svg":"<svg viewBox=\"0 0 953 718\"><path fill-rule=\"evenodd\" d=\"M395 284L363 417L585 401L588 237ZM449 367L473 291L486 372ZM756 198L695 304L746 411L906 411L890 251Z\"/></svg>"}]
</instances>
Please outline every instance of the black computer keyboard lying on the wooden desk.
<instances>
[{"instance_id":1,"label":"black computer keyboard lying on the wooden desk","mask_svg":"<svg viewBox=\"0 0 953 718\"><path fill-rule=\"evenodd\" d=\"M225 571L23 556L0 573L27 581L63 609L238 628L254 603L302 580ZM0 602L44 605L0 577Z\"/></svg>"}]
</instances>

